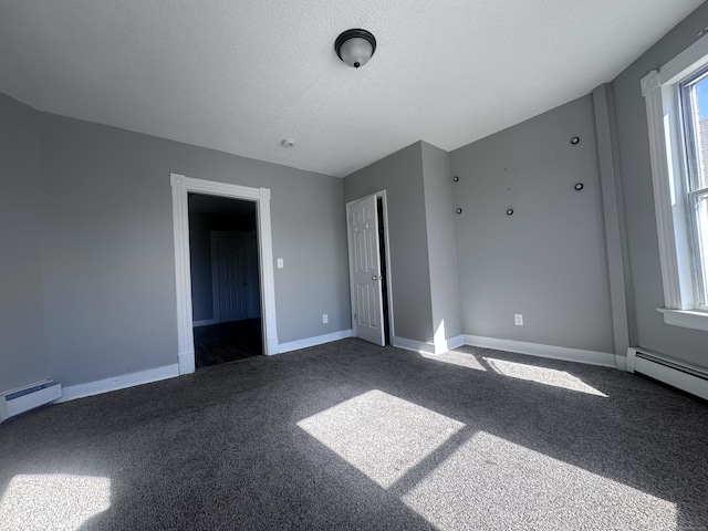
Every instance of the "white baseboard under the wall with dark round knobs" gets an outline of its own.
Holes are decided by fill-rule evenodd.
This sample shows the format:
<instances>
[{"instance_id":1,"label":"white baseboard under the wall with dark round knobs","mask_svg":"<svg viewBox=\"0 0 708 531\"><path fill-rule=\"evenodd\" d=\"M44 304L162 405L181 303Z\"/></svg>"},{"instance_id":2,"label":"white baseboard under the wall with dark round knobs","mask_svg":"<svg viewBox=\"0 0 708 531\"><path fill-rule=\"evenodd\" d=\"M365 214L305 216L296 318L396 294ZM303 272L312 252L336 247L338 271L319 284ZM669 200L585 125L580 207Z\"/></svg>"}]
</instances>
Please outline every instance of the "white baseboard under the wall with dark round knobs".
<instances>
[{"instance_id":1,"label":"white baseboard under the wall with dark round knobs","mask_svg":"<svg viewBox=\"0 0 708 531\"><path fill-rule=\"evenodd\" d=\"M581 348L566 348L564 346L541 345L522 341L498 340L494 337L481 337L479 335L465 335L465 344L494 348L497 351L516 352L531 356L564 360L566 362L585 363L603 367L617 367L616 356L606 352L583 351Z\"/></svg>"}]
</instances>

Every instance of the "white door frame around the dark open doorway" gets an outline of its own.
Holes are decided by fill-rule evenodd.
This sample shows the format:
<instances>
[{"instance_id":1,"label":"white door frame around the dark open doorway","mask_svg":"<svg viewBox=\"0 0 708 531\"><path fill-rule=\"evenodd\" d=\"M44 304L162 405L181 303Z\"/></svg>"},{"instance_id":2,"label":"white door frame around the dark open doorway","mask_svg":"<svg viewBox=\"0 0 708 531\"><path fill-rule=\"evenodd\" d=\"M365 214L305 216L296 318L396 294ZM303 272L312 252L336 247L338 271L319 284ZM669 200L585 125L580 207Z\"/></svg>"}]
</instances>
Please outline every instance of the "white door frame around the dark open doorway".
<instances>
[{"instance_id":1,"label":"white door frame around the dark open doorway","mask_svg":"<svg viewBox=\"0 0 708 531\"><path fill-rule=\"evenodd\" d=\"M258 243L261 275L261 312L263 352L278 354L278 323L275 320L275 282L273 280L273 242L270 222L270 188L252 188L212 180L195 179L170 174L173 188L173 223L175 229L175 280L177 288L177 362L179 374L195 372L195 340L191 315L191 272L189 267L189 205L188 194L229 197L256 201Z\"/></svg>"}]
</instances>

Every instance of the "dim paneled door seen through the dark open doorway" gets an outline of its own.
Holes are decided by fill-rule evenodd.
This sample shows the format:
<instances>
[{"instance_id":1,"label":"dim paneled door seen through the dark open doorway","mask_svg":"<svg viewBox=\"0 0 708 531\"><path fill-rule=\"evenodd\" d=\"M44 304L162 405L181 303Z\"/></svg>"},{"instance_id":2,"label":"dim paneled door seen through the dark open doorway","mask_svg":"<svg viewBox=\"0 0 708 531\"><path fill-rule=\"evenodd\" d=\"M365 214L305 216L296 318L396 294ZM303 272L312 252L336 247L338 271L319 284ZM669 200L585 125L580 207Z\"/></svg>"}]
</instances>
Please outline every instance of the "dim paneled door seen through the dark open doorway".
<instances>
[{"instance_id":1,"label":"dim paneled door seen through the dark open doorway","mask_svg":"<svg viewBox=\"0 0 708 531\"><path fill-rule=\"evenodd\" d=\"M246 319L248 316L246 238L218 237L217 264L221 322Z\"/></svg>"}]
</instances>

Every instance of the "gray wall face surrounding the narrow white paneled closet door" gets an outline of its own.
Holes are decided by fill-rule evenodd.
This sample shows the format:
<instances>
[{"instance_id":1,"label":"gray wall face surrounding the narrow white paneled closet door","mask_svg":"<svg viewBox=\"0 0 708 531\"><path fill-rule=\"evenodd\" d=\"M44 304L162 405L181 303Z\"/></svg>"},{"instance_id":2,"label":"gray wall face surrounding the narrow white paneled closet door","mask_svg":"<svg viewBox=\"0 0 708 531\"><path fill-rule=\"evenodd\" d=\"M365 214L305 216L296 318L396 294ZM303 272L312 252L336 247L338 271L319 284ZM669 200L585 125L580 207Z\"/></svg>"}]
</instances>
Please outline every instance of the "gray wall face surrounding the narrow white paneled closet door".
<instances>
[{"instance_id":1,"label":"gray wall face surrounding the narrow white paneled closet door","mask_svg":"<svg viewBox=\"0 0 708 531\"><path fill-rule=\"evenodd\" d=\"M413 144L344 178L344 200L379 190L388 200L388 237L397 337L433 341L421 143Z\"/></svg>"}]
</instances>

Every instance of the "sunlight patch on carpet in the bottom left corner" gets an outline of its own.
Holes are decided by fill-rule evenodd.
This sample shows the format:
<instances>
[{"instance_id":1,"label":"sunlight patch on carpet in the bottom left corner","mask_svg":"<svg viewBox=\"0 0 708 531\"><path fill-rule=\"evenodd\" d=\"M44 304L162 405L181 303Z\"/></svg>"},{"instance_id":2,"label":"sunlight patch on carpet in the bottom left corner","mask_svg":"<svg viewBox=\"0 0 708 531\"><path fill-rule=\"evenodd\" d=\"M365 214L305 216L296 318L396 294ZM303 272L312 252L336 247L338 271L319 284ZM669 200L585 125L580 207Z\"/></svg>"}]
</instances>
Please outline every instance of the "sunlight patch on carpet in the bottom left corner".
<instances>
[{"instance_id":1,"label":"sunlight patch on carpet in the bottom left corner","mask_svg":"<svg viewBox=\"0 0 708 531\"><path fill-rule=\"evenodd\" d=\"M0 530L74 531L110 507L108 478L19 475L0 501Z\"/></svg>"}]
</instances>

